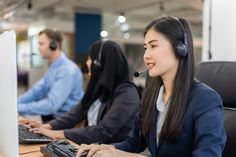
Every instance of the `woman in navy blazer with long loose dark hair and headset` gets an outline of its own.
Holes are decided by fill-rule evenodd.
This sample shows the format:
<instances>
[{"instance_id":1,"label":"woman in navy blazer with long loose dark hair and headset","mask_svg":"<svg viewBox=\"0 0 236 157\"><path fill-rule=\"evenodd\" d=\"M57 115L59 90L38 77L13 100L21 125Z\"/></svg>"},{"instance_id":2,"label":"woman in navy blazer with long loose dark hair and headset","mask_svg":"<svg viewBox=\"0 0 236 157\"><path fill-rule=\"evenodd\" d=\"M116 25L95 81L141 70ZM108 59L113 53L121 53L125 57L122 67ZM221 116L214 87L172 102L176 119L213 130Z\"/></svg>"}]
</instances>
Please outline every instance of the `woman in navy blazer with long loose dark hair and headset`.
<instances>
[{"instance_id":1,"label":"woman in navy blazer with long loose dark hair and headset","mask_svg":"<svg viewBox=\"0 0 236 157\"><path fill-rule=\"evenodd\" d=\"M88 157L221 157L226 135L216 91L194 80L193 40L182 18L161 17L144 32L144 62L151 79L129 137L111 145L82 145ZM136 153L136 154L135 154Z\"/></svg>"}]
</instances>

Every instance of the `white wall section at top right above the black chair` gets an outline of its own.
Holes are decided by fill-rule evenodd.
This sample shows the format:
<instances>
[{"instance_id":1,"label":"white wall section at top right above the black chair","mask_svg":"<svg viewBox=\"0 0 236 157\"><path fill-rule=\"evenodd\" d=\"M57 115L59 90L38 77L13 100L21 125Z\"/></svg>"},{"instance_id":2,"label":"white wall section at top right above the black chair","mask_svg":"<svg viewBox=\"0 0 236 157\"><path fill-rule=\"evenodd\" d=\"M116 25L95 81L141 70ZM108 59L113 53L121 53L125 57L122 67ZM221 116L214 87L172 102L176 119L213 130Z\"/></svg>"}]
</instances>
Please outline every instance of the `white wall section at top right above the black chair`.
<instances>
[{"instance_id":1,"label":"white wall section at top right above the black chair","mask_svg":"<svg viewBox=\"0 0 236 157\"><path fill-rule=\"evenodd\" d=\"M236 60L236 1L204 0L202 60Z\"/></svg>"}]
</instances>

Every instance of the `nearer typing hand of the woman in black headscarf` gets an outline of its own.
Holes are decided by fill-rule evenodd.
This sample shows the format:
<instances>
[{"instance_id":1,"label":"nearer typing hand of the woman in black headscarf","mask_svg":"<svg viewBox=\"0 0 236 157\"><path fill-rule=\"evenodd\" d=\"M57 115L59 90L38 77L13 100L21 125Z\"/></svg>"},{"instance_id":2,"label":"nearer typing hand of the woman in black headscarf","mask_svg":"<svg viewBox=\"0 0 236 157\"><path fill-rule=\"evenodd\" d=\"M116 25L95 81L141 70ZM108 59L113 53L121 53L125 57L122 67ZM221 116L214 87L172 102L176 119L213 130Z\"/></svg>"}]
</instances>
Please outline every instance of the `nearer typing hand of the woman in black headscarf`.
<instances>
[{"instance_id":1,"label":"nearer typing hand of the woman in black headscarf","mask_svg":"<svg viewBox=\"0 0 236 157\"><path fill-rule=\"evenodd\" d=\"M47 137L50 137L52 139L63 139L65 138L64 132L62 130L50 130L46 128L31 128L29 131L32 131L36 134L45 135Z\"/></svg>"}]
</instances>

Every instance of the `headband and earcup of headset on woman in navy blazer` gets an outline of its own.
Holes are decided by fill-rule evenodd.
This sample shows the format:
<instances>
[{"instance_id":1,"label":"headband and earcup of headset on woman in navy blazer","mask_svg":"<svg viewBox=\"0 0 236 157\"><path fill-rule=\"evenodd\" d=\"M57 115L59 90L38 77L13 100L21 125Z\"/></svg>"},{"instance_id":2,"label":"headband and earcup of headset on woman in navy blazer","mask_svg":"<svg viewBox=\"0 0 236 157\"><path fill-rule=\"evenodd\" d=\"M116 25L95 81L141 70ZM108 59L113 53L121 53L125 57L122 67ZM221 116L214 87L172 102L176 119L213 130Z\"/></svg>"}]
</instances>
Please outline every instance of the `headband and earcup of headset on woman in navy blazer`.
<instances>
[{"instance_id":1,"label":"headband and earcup of headset on woman in navy blazer","mask_svg":"<svg viewBox=\"0 0 236 157\"><path fill-rule=\"evenodd\" d=\"M183 34L184 34L184 41L177 41L175 44L174 44L174 48L175 48L175 51L177 52L177 54L180 56L180 57L185 57L188 55L188 38L187 38L187 33L184 29L184 26L182 24L182 22L179 20L179 18L177 17L174 17L172 16L173 19L175 19L182 31L183 31Z\"/></svg>"}]
</instances>

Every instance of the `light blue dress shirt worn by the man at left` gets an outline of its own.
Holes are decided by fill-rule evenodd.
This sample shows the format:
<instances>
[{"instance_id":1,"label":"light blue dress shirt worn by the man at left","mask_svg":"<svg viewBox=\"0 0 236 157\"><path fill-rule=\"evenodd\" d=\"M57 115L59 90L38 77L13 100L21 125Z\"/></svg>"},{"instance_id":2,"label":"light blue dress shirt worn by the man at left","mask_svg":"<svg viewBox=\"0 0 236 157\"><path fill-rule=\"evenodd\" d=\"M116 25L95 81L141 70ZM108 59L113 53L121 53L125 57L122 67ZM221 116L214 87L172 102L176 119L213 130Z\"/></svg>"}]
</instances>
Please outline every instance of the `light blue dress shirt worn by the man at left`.
<instances>
[{"instance_id":1,"label":"light blue dress shirt worn by the man at left","mask_svg":"<svg viewBox=\"0 0 236 157\"><path fill-rule=\"evenodd\" d=\"M64 53L44 77L18 98L18 112L27 115L62 115L77 105L84 91L80 69Z\"/></svg>"}]
</instances>

